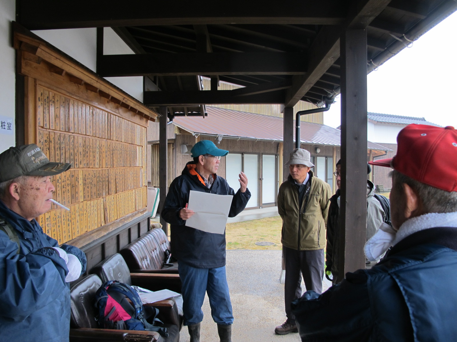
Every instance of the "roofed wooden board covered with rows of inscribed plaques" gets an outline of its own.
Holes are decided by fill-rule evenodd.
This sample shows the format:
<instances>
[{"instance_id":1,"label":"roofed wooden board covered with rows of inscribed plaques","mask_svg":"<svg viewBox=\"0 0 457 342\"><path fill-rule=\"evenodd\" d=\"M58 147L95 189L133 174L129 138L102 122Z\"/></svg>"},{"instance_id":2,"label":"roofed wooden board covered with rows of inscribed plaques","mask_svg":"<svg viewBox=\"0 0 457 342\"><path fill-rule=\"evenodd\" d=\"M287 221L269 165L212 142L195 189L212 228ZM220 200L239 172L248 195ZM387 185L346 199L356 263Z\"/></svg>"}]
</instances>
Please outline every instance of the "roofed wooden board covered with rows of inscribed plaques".
<instances>
[{"instance_id":1,"label":"roofed wooden board covered with rows of inscribed plaques","mask_svg":"<svg viewBox=\"0 0 457 342\"><path fill-rule=\"evenodd\" d=\"M36 36L18 30L23 143L71 163L52 177L45 233L80 247L88 269L149 229L147 127L155 113Z\"/></svg>"}]
</instances>

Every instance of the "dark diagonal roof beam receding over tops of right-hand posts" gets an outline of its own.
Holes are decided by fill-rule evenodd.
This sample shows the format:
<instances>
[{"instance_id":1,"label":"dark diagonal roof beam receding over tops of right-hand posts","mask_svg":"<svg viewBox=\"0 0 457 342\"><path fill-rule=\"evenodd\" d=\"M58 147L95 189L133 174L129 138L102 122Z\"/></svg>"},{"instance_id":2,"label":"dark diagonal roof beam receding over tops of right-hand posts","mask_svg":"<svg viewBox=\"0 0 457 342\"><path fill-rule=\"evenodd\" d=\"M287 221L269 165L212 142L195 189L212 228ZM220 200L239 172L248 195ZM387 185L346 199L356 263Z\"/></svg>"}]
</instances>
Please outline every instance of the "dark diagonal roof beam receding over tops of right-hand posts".
<instances>
[{"instance_id":1,"label":"dark diagonal roof beam receding over tops of right-hand posts","mask_svg":"<svg viewBox=\"0 0 457 342\"><path fill-rule=\"evenodd\" d=\"M343 26L324 26L311 44L314 51L305 75L293 76L287 90L285 106L293 107L340 57L340 31L345 27L365 28L388 5L390 0L354 1Z\"/></svg>"}]
</instances>

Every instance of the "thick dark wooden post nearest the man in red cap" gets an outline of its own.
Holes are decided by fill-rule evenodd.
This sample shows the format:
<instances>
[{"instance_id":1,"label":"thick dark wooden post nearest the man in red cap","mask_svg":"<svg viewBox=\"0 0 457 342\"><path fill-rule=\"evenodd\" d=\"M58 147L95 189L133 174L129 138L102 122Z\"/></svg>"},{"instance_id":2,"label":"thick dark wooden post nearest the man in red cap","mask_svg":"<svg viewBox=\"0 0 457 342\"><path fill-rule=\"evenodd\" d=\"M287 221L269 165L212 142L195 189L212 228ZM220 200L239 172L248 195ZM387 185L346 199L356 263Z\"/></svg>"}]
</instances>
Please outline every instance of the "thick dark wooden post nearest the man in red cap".
<instances>
[{"instance_id":1,"label":"thick dark wooden post nearest the man in red cap","mask_svg":"<svg viewBox=\"0 0 457 342\"><path fill-rule=\"evenodd\" d=\"M367 225L367 31L347 29L341 59L340 280L365 268Z\"/></svg>"}]
</instances>

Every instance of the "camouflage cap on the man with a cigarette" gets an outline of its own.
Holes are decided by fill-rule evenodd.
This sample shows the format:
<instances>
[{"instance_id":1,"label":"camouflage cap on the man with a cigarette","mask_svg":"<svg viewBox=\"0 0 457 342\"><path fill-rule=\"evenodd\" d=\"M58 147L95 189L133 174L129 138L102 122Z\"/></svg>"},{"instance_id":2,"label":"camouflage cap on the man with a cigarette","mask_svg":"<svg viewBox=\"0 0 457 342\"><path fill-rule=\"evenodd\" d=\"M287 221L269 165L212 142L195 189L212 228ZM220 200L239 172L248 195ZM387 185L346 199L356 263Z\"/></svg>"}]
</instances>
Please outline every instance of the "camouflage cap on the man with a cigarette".
<instances>
[{"instance_id":1,"label":"camouflage cap on the man with a cigarette","mask_svg":"<svg viewBox=\"0 0 457 342\"><path fill-rule=\"evenodd\" d=\"M19 176L53 176L70 168L69 163L50 162L35 144L10 147L0 154L0 183Z\"/></svg>"}]
</instances>

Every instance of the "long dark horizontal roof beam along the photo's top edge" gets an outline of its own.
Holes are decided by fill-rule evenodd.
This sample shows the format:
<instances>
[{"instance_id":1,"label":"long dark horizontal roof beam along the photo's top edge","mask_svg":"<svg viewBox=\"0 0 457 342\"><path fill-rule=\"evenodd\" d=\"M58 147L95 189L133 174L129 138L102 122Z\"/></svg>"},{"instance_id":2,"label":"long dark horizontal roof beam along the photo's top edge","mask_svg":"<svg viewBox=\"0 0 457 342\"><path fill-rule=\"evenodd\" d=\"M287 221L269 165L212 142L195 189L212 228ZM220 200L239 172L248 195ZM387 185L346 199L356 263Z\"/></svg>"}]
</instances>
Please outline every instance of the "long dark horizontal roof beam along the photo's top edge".
<instances>
[{"instance_id":1,"label":"long dark horizontal roof beam along the photo's top edge","mask_svg":"<svg viewBox=\"0 0 457 342\"><path fill-rule=\"evenodd\" d=\"M197 24L339 25L346 17L346 2L340 0L283 0L268 6L245 0L205 2L139 1L126 6L123 0L80 0L75 8L60 0L48 0L46 6L17 0L16 8L17 21L29 30Z\"/></svg>"}]
</instances>

